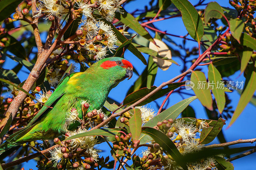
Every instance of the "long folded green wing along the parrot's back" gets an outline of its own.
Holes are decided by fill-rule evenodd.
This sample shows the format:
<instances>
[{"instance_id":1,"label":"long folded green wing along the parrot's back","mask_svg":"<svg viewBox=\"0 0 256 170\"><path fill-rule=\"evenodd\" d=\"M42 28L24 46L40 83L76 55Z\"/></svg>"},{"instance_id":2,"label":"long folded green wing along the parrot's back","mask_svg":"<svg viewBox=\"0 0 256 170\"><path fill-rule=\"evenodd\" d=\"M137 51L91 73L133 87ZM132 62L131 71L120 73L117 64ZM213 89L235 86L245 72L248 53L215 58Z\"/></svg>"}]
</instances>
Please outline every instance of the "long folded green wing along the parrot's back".
<instances>
[{"instance_id":1,"label":"long folded green wing along the parrot's back","mask_svg":"<svg viewBox=\"0 0 256 170\"><path fill-rule=\"evenodd\" d=\"M38 121L38 119L46 113L47 109L51 109L52 104L55 101L58 101L62 95L65 94L65 85L68 82L69 78L72 77L74 73L70 74L69 76L66 76L63 78L59 85L56 87L55 91L52 93L52 95L49 97L49 99L45 102L44 106L41 108L41 110L34 116L34 118L28 123L25 129L31 127L35 122Z\"/></svg>"}]
</instances>

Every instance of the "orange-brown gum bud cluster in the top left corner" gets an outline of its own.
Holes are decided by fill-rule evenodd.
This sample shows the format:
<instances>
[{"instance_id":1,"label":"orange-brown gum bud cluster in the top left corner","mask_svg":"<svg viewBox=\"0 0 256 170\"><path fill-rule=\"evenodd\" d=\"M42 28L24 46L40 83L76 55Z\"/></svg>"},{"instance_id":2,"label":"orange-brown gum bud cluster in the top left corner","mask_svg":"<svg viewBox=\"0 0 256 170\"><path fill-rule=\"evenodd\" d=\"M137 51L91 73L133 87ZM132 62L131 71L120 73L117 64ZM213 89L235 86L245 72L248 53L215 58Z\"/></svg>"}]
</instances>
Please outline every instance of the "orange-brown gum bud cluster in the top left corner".
<instances>
[{"instance_id":1,"label":"orange-brown gum bud cluster in the top left corner","mask_svg":"<svg viewBox=\"0 0 256 170\"><path fill-rule=\"evenodd\" d=\"M13 14L13 19L12 18L6 18L4 20L4 23L5 24L10 24L14 21L23 19L26 15L28 15L29 9L31 8L31 6L32 6L32 1L30 1L30 0L23 1L16 8L15 13Z\"/></svg>"}]
</instances>

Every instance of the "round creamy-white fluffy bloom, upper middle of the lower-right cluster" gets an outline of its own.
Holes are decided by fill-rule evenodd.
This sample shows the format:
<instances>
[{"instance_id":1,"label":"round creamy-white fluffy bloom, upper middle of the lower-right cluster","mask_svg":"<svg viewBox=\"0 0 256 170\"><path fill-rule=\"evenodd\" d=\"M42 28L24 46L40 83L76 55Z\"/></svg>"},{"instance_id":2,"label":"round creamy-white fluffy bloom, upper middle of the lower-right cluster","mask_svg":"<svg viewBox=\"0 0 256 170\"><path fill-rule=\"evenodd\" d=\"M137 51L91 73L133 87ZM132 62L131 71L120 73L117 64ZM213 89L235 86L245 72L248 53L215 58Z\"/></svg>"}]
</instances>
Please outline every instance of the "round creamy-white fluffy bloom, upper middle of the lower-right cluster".
<instances>
[{"instance_id":1,"label":"round creamy-white fluffy bloom, upper middle of the lower-right cluster","mask_svg":"<svg viewBox=\"0 0 256 170\"><path fill-rule=\"evenodd\" d=\"M189 139L191 139L192 137L196 136L196 133L194 133L194 131L197 128L194 127L192 124L188 125L188 124L184 124L182 126L179 127L178 133L179 135L182 137L182 139L184 141L188 141Z\"/></svg>"}]
</instances>

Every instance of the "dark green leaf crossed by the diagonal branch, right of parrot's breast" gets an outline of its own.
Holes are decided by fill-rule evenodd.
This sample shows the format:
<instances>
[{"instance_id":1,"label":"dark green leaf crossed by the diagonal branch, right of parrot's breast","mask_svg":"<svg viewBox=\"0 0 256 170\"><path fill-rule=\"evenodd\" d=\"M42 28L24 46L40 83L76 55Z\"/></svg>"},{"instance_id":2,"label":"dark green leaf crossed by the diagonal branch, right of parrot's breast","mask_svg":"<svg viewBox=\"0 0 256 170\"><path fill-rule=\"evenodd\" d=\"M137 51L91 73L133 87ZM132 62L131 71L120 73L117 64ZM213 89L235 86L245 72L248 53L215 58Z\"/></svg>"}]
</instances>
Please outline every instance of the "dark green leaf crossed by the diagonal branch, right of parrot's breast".
<instances>
[{"instance_id":1,"label":"dark green leaf crossed by the diagonal branch, right of parrot's breast","mask_svg":"<svg viewBox=\"0 0 256 170\"><path fill-rule=\"evenodd\" d=\"M142 106L142 105L145 105L145 104L147 104L151 101L154 101L154 100L164 96L164 94L170 92L171 90L174 90L174 89L180 87L180 85L184 85L184 84L185 84L185 82L172 83L167 88L159 90L157 93L153 94L150 98L144 100L143 102L141 102L137 106ZM131 105L131 104L140 100L141 98L143 98L144 96L146 96L148 93L152 92L155 89L156 89L156 86L152 86L150 89L148 89L147 87L144 87L144 88L141 88L138 91L132 92L131 94L129 94L128 96L125 97L123 105Z\"/></svg>"}]
</instances>

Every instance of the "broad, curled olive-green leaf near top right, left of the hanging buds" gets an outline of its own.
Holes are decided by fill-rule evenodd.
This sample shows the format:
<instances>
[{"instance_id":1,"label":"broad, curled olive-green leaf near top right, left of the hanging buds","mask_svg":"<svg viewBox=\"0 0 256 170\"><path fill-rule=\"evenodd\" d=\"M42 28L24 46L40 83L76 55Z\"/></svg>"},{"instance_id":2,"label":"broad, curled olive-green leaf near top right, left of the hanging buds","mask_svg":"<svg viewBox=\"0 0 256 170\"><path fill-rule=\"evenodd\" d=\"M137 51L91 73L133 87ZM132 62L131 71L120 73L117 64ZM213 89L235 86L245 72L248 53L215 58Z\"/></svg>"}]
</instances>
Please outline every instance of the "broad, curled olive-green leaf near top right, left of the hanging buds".
<instances>
[{"instance_id":1,"label":"broad, curled olive-green leaf near top right, left of the hanging buds","mask_svg":"<svg viewBox=\"0 0 256 170\"><path fill-rule=\"evenodd\" d=\"M208 23L211 18L222 18L224 15L221 6L217 2L210 2L204 10L204 20Z\"/></svg>"}]
</instances>

